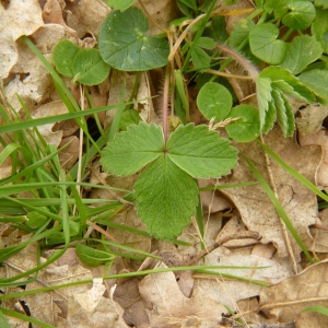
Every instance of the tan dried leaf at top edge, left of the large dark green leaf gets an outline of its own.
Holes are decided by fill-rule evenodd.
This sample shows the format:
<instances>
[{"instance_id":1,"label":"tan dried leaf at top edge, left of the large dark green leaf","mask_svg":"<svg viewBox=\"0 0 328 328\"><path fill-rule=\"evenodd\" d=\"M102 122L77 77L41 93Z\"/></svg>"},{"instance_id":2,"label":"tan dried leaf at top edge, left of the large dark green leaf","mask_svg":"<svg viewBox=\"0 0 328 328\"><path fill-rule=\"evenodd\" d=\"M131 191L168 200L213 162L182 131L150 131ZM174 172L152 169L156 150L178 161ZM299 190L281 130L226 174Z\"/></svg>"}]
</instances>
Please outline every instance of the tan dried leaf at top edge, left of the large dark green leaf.
<instances>
[{"instance_id":1,"label":"tan dried leaf at top edge, left of the large dark green leaf","mask_svg":"<svg viewBox=\"0 0 328 328\"><path fill-rule=\"evenodd\" d=\"M97 37L102 23L110 9L102 0L80 0L78 3L67 1L67 24L75 30L80 38L87 33Z\"/></svg>"}]
</instances>

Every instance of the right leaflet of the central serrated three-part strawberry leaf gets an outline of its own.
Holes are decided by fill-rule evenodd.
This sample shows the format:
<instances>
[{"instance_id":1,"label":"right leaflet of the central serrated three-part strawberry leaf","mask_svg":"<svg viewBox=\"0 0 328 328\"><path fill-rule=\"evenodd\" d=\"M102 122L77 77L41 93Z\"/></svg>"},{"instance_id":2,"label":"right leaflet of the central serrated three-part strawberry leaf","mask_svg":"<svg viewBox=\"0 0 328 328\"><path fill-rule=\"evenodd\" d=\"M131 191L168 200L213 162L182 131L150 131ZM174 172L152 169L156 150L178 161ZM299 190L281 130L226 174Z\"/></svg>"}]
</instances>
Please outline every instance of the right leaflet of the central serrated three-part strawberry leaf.
<instances>
[{"instance_id":1,"label":"right leaflet of the central serrated three-part strawberry leaf","mask_svg":"<svg viewBox=\"0 0 328 328\"><path fill-rule=\"evenodd\" d=\"M168 157L195 178L220 177L237 165L237 150L207 126L178 126L166 148Z\"/></svg>"}]
</instances>

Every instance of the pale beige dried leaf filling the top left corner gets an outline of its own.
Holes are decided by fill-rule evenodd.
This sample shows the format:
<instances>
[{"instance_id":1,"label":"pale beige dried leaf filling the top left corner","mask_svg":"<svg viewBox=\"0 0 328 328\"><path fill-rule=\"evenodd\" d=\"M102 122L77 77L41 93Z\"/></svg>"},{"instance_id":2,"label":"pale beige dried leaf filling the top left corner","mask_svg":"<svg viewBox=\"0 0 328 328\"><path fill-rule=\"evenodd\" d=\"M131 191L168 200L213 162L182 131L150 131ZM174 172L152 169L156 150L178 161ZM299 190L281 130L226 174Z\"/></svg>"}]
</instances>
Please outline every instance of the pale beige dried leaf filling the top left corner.
<instances>
[{"instance_id":1,"label":"pale beige dried leaf filling the top left corner","mask_svg":"<svg viewBox=\"0 0 328 328\"><path fill-rule=\"evenodd\" d=\"M2 8L2 4L1 4ZM37 0L11 0L0 16L0 80L8 77L17 61L15 40L44 25Z\"/></svg>"}]
</instances>

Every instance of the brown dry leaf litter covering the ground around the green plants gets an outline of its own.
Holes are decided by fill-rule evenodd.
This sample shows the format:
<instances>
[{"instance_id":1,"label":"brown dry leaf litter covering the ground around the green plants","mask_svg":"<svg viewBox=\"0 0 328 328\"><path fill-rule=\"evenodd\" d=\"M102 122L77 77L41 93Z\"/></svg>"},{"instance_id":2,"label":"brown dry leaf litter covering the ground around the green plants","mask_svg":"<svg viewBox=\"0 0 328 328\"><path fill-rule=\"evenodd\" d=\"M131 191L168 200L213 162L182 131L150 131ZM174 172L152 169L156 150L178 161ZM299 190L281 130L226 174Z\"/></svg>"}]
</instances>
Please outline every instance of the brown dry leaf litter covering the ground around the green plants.
<instances>
[{"instance_id":1,"label":"brown dry leaf litter covering the ground around the green plants","mask_svg":"<svg viewBox=\"0 0 328 328\"><path fill-rule=\"evenodd\" d=\"M247 3L247 1L239 2L243 5ZM165 26L176 16L177 10L174 1L161 1L159 7L152 1L143 3L151 14L156 13L155 20L161 25ZM55 110L60 110L62 107L56 98L49 74L31 50L19 40L19 37L31 35L43 54L50 59L52 48L60 39L69 38L79 45L84 42L92 47L101 23L108 12L108 7L101 0L69 2L48 0L43 9L36 0L11 0L7 9L1 4L0 77L7 79L5 95L17 112L21 110L21 104L15 97L17 91L27 107L35 109L35 117L48 115L45 110L50 115L56 115L59 112ZM151 26L151 28L154 27ZM150 34L153 34L153 30ZM107 81L93 90L93 95L99 98L98 104L118 103L117 95L120 93L122 81L119 74L121 73L114 71ZM132 93L136 77L124 74L132 80L131 85L127 85L128 97L128 94ZM155 102L144 101L150 95L154 95L151 84L161 84L161 81L151 79L150 74L141 73L141 83L136 99L139 101L139 105L140 99L143 99L143 120L157 122L153 112ZM67 84L73 90L68 80ZM248 86L245 84L241 87L247 90ZM79 99L79 91L75 90L75 98ZM195 104L191 105L195 106ZM278 129L265 136L263 140L311 181L326 188L327 137L323 130L315 134L314 132L320 129L327 110L326 108L321 110L320 113L324 114L320 117L313 114L315 110L316 106L300 110L301 118L296 120L300 133L309 134L309 137L300 138L303 147L300 147L293 138L284 139ZM109 117L101 117L103 126L110 124ZM78 141L78 138L73 136L75 130L77 127L70 129L70 126L65 124L55 131L54 127L48 127L42 133L45 138L56 137L56 140L48 142L60 147L66 142L65 138L74 138L74 141ZM317 223L327 226L328 214L326 210L318 213L315 196L288 176L274 162L268 161L255 142L238 144L238 150L250 157L267 179L276 185L277 195L307 248L318 253L317 256L326 258L327 232L318 229ZM67 149L65 155L62 163L68 163L73 159L69 164L71 166L78 160L74 149ZM5 169L5 163L2 165L1 172ZM101 172L98 165L94 169L96 173L91 173L91 176L97 184L105 183L109 186L131 189L136 179L136 177L115 178ZM9 175L10 172L7 176ZM1 173L1 178L4 177L5 175ZM241 161L231 175L219 181L207 180L206 185L211 183L215 186L224 186L254 180L249 168ZM292 251L300 273L293 272L292 259L282 232L283 227L261 187L254 185L206 192L208 200L204 201L202 198L204 238L199 237L196 224L186 227L178 238L189 243L189 247L159 243L149 236L136 237L136 234L108 227L107 232L119 243L132 245L143 251L157 251L163 258L163 262L145 260L140 266L138 261L117 257L109 273L183 266L190 262L190 259L201 251L202 242L207 246L218 244L218 247L207 256L207 265L257 266L267 267L266 269L222 269L220 270L222 276L218 271L216 277L190 271L186 272L187 274L163 272L144 278L103 281L99 277L105 274L104 268L85 268L77 257L75 250L70 248L60 259L42 270L36 281L28 284L26 290L32 291L82 279L91 279L93 284L81 284L56 292L24 296L23 301L26 302L32 316L56 327L131 327L132 325L136 327L216 327L220 323L224 323L223 314L229 317L226 308L229 306L236 313L225 319L229 327L232 327L238 317L242 317L244 323L246 320L251 324L268 325L267 327L276 323L284 323L285 326L281 327L288 327L295 320L297 327L327 326L328 323L324 316L302 313L303 308L311 305L328 306L327 262L323 261L305 269L300 247L292 239ZM91 197L112 198L113 195L108 195L107 190L92 190ZM118 211L113 222L145 231L144 224L141 223L133 209ZM19 235L17 230L12 230L5 223L1 223L0 227L1 247L22 243L30 237L30 235ZM36 247L36 244L32 244L5 260L3 262L5 267L0 268L1 277L10 278L37 266ZM43 254L43 259L49 257L50 254L51 250ZM302 271L303 269L305 270ZM243 277L245 280L233 280L226 278L227 274ZM253 284L250 280L266 282L271 286ZM13 288L5 292L17 291L22 289ZM5 301L2 306L17 311L17 298ZM263 312L266 317L259 315L259 312ZM15 318L10 318L10 324L14 327L26 326Z\"/></svg>"}]
</instances>

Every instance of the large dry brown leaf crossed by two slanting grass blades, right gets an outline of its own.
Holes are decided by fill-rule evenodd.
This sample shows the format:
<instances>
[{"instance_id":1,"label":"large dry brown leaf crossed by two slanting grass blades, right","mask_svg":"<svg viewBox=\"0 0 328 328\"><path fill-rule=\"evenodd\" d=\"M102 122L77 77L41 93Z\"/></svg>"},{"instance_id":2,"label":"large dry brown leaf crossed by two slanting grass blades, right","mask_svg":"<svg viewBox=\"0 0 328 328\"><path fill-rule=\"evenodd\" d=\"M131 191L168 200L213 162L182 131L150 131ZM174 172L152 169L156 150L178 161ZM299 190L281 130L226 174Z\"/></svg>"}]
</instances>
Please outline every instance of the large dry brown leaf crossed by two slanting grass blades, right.
<instances>
[{"instance_id":1,"label":"large dry brown leaf crossed by two slanting grass blades, right","mask_svg":"<svg viewBox=\"0 0 328 328\"><path fill-rule=\"evenodd\" d=\"M294 169L315 183L315 173L321 157L318 147L301 148L293 138L283 138L278 128L274 128L266 136L265 143ZM256 142L238 144L237 147L255 163L256 167L270 184L265 153L260 147ZM281 204L302 241L311 247L313 239L308 226L314 224L318 218L316 196L296 179L292 178L276 162L270 162L270 169ZM225 185L254 180L256 178L247 164L244 161L239 161L239 165L234 169L233 174L223 177L219 183ZM259 184L224 189L222 192L234 201L248 230L255 231L262 236L261 243L273 243L279 256L289 256L279 216ZM292 247L297 258L300 247L293 239Z\"/></svg>"}]
</instances>

